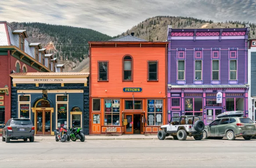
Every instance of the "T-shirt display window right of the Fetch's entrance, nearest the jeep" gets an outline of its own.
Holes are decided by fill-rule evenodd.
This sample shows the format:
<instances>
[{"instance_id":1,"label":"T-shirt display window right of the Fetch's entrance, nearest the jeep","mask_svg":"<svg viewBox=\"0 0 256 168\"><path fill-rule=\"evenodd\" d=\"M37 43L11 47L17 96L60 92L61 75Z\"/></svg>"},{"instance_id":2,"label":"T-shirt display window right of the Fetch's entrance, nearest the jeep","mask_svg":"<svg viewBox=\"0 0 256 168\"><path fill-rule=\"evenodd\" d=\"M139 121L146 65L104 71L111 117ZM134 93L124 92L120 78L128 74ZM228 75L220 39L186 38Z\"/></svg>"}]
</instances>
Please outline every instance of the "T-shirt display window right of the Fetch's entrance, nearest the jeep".
<instances>
[{"instance_id":1,"label":"T-shirt display window right of the Fetch's entrance, nearest the jeep","mask_svg":"<svg viewBox=\"0 0 256 168\"><path fill-rule=\"evenodd\" d=\"M148 100L148 126L162 126L162 100Z\"/></svg>"}]
</instances>

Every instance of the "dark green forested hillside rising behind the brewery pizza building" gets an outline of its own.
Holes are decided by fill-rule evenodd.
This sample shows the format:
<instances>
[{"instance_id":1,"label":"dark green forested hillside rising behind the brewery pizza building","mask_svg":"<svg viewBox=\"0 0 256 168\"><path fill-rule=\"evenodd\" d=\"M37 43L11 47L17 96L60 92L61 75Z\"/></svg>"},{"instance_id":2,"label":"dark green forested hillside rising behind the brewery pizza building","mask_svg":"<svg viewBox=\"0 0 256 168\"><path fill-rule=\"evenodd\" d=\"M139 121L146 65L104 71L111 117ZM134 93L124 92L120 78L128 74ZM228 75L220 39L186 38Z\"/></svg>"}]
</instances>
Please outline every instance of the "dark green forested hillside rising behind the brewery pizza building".
<instances>
[{"instance_id":1,"label":"dark green forested hillside rising behind the brewery pizza building","mask_svg":"<svg viewBox=\"0 0 256 168\"><path fill-rule=\"evenodd\" d=\"M88 41L107 41L113 37L88 28L49 25L45 23L18 23L11 25L18 30L26 30L30 42L40 42L65 64L64 72L76 68L88 56Z\"/></svg>"}]
</instances>

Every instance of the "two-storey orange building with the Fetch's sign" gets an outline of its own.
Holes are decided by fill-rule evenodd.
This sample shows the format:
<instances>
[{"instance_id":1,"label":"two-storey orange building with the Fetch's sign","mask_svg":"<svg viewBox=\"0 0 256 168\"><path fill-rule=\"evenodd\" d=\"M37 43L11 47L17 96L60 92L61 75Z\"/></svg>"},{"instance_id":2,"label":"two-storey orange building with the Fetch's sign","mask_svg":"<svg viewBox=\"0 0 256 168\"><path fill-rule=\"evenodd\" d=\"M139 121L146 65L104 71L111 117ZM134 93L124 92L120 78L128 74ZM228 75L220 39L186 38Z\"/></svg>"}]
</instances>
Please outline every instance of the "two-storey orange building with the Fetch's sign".
<instances>
[{"instance_id":1,"label":"two-storey orange building with the Fetch's sign","mask_svg":"<svg viewBox=\"0 0 256 168\"><path fill-rule=\"evenodd\" d=\"M167 123L167 42L132 34L89 45L89 133L157 133Z\"/></svg>"}]
</instances>

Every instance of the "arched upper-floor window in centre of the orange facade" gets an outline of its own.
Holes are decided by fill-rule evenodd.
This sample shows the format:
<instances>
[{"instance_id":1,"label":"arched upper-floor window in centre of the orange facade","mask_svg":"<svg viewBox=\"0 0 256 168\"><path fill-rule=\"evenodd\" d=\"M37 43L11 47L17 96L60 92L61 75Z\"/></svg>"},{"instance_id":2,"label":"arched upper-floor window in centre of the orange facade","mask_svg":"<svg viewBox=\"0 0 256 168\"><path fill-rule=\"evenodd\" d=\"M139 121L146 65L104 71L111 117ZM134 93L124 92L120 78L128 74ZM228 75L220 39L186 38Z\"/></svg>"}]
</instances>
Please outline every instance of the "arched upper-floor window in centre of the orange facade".
<instances>
[{"instance_id":1,"label":"arched upper-floor window in centre of the orange facade","mask_svg":"<svg viewBox=\"0 0 256 168\"><path fill-rule=\"evenodd\" d=\"M133 58L123 57L123 81L133 81Z\"/></svg>"}]
</instances>

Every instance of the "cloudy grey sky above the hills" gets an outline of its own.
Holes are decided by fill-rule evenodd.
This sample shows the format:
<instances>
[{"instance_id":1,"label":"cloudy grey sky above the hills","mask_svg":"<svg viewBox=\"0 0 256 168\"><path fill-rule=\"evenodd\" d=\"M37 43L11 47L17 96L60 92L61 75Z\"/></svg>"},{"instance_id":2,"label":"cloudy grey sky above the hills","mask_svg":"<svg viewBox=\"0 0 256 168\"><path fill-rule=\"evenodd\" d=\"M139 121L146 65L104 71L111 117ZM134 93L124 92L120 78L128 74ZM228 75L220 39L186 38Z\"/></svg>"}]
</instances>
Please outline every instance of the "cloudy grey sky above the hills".
<instances>
[{"instance_id":1,"label":"cloudy grey sky above the hills","mask_svg":"<svg viewBox=\"0 0 256 168\"><path fill-rule=\"evenodd\" d=\"M0 0L0 21L70 25L112 36L157 15L256 22L256 0Z\"/></svg>"}]
</instances>

